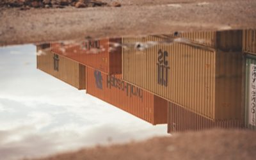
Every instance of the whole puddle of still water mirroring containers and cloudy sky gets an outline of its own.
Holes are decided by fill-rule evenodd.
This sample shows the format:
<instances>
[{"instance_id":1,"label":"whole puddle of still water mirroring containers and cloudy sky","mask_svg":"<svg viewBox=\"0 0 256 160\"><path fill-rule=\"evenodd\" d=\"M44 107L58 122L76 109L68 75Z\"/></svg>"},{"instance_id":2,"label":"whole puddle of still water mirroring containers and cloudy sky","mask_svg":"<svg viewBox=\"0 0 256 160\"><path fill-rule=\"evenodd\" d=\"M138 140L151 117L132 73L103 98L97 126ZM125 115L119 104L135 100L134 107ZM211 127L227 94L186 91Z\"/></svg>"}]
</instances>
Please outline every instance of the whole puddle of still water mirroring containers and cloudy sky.
<instances>
[{"instance_id":1,"label":"whole puddle of still water mirroring containers and cloudy sky","mask_svg":"<svg viewBox=\"0 0 256 160\"><path fill-rule=\"evenodd\" d=\"M244 100L254 94L243 97L255 90L253 76L243 74L254 73L253 37L254 30L175 32L1 48L1 157L143 140L166 130L255 128L253 106ZM248 55L251 70L243 62ZM169 110L157 110L157 102ZM168 127L151 125L164 118Z\"/></svg>"}]
</instances>

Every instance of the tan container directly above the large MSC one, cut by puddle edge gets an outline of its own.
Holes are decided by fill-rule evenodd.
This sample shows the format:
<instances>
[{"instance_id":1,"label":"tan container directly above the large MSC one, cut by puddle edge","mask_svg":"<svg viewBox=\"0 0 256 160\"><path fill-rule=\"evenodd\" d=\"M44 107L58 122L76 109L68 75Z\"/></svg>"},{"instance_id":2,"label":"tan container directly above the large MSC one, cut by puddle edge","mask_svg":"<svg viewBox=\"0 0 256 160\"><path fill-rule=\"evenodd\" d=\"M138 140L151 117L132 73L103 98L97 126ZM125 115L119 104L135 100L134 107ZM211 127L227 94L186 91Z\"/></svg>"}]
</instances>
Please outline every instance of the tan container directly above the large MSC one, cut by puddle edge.
<instances>
[{"instance_id":1,"label":"tan container directly above the large MSC one, cut by puddle edge","mask_svg":"<svg viewBox=\"0 0 256 160\"><path fill-rule=\"evenodd\" d=\"M178 36L221 51L242 50L242 30L184 32Z\"/></svg>"}]
</instances>

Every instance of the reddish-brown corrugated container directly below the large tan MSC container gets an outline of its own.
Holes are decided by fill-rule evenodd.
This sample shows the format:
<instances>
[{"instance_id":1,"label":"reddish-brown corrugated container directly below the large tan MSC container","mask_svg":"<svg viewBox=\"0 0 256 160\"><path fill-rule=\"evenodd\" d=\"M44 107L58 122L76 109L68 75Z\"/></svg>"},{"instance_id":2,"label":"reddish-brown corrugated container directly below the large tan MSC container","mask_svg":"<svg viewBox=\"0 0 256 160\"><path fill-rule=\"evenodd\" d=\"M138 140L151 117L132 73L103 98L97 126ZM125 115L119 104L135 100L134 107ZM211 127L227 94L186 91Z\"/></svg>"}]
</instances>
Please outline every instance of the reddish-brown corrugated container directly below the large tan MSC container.
<instances>
[{"instance_id":1,"label":"reddish-brown corrugated container directly below the large tan MSC container","mask_svg":"<svg viewBox=\"0 0 256 160\"><path fill-rule=\"evenodd\" d=\"M187 109L173 103L168 107L168 132L199 131L203 129L219 128L242 128L242 120L221 120L213 122L204 116L197 115Z\"/></svg>"}]
</instances>

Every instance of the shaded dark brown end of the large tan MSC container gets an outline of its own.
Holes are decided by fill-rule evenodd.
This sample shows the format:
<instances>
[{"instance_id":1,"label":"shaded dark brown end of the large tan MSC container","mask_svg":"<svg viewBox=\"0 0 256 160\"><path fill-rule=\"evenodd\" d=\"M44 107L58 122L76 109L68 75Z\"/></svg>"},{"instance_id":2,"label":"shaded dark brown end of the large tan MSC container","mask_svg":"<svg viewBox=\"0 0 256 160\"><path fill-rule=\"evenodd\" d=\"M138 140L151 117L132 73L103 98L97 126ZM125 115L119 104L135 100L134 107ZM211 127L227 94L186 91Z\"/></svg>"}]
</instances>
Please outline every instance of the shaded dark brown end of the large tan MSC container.
<instances>
[{"instance_id":1,"label":"shaded dark brown end of the large tan MSC container","mask_svg":"<svg viewBox=\"0 0 256 160\"><path fill-rule=\"evenodd\" d=\"M216 52L216 119L223 116L227 119L242 116L242 56L241 52Z\"/></svg>"}]
</instances>

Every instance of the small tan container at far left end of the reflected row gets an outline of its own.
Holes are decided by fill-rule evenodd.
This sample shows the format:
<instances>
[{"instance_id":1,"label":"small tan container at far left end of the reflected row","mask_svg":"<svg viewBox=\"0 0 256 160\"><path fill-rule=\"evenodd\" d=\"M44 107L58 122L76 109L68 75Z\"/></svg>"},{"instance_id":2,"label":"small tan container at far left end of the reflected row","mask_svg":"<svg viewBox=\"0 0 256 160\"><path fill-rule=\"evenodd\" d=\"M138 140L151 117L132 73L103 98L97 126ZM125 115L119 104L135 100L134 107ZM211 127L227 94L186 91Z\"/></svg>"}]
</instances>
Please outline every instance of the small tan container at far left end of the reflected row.
<instances>
[{"instance_id":1,"label":"small tan container at far left end of the reflected row","mask_svg":"<svg viewBox=\"0 0 256 160\"><path fill-rule=\"evenodd\" d=\"M41 47L37 46L37 50ZM76 61L68 60L63 56L56 56L51 49L44 51L44 54L36 56L36 68L54 76L65 83L68 83L79 90L86 89L86 67Z\"/></svg>"}]
</instances>

